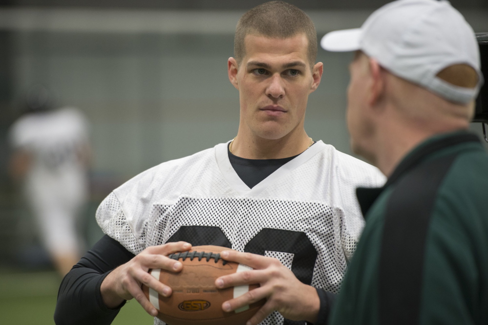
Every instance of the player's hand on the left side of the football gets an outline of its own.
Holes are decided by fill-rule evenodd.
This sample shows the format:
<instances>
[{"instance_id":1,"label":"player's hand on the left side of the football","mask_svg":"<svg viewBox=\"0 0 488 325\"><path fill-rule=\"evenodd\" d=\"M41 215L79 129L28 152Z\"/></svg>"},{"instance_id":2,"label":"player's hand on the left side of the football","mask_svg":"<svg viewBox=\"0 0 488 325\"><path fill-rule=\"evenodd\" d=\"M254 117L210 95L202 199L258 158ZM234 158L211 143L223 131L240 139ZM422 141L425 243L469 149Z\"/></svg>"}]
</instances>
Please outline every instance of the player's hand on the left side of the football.
<instances>
[{"instance_id":1,"label":"player's hand on the left side of the football","mask_svg":"<svg viewBox=\"0 0 488 325\"><path fill-rule=\"evenodd\" d=\"M100 287L105 305L108 308L116 308L125 300L135 298L150 315L156 316L158 311L144 295L141 284L144 283L148 287L153 288L164 297L171 295L171 288L154 279L148 273L148 270L160 268L179 272L182 268L181 262L171 260L167 256L190 249L191 244L184 241L151 246L132 260L117 267L107 275Z\"/></svg>"}]
</instances>

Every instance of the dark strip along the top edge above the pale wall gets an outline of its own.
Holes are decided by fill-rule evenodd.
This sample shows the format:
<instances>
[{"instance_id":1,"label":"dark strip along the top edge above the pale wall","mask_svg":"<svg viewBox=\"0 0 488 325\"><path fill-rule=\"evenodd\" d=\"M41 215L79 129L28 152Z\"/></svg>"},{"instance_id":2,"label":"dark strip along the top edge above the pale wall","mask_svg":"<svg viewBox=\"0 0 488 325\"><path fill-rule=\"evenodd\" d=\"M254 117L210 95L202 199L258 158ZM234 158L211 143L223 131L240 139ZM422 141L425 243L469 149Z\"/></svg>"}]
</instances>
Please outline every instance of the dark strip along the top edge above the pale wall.
<instances>
[{"instance_id":1,"label":"dark strip along the top edge above the pale wall","mask_svg":"<svg viewBox=\"0 0 488 325\"><path fill-rule=\"evenodd\" d=\"M1 7L94 7L168 10L246 10L263 0L0 0ZM290 0L304 10L374 9L387 0ZM456 8L485 9L488 0L451 0Z\"/></svg>"}]
</instances>

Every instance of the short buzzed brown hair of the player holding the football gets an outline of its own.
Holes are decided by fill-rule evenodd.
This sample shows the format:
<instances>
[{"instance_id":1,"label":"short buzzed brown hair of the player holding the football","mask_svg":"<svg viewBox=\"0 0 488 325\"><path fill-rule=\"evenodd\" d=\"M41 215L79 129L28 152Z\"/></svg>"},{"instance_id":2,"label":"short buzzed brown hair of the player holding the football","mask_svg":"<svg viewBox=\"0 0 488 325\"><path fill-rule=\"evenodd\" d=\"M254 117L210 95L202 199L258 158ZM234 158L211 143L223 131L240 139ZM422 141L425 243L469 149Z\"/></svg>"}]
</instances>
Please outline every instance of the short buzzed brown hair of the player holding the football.
<instances>
[{"instance_id":1,"label":"short buzzed brown hair of the player holding the football","mask_svg":"<svg viewBox=\"0 0 488 325\"><path fill-rule=\"evenodd\" d=\"M260 4L246 12L237 22L234 58L240 65L246 55L246 35L286 39L298 33L305 33L308 39L308 59L313 67L317 59L317 31L310 17L293 4L283 1Z\"/></svg>"}]
</instances>

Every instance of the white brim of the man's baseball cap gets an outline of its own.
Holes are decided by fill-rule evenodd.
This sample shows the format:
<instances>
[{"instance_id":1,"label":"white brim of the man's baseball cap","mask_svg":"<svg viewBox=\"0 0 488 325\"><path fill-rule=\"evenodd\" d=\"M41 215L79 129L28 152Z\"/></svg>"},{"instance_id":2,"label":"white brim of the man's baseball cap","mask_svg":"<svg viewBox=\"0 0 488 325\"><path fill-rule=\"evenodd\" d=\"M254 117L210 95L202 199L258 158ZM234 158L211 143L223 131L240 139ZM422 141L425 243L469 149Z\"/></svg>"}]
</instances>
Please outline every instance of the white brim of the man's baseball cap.
<instances>
[{"instance_id":1,"label":"white brim of the man's baseball cap","mask_svg":"<svg viewBox=\"0 0 488 325\"><path fill-rule=\"evenodd\" d=\"M335 30L320 40L320 46L327 51L349 52L361 49L361 28Z\"/></svg>"}]
</instances>

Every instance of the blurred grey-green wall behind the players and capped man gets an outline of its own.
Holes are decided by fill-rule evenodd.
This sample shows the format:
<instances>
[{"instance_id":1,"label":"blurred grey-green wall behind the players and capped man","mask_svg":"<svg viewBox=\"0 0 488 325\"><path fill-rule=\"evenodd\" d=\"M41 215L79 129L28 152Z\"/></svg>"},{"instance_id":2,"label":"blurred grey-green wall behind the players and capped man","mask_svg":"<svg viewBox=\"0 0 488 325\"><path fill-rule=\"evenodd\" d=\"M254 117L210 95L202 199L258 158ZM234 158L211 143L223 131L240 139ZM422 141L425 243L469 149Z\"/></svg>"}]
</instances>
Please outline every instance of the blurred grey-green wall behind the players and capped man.
<instances>
[{"instance_id":1,"label":"blurred grey-green wall behind the players and capped man","mask_svg":"<svg viewBox=\"0 0 488 325\"><path fill-rule=\"evenodd\" d=\"M238 92L228 81L227 59L233 56L238 18L261 2L1 1L0 267L27 267L19 255L37 242L19 188L7 175L7 132L27 88L43 84L60 106L77 107L90 121L93 162L84 231L91 244L101 236L95 209L114 187L151 166L235 136ZM311 16L320 39L333 29L361 26L387 1L290 2ZM488 1L451 3L475 32L488 31ZM310 96L305 122L314 140L347 153L350 58L319 48L324 75Z\"/></svg>"}]
</instances>

